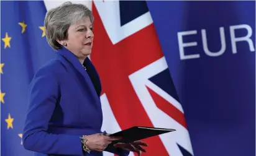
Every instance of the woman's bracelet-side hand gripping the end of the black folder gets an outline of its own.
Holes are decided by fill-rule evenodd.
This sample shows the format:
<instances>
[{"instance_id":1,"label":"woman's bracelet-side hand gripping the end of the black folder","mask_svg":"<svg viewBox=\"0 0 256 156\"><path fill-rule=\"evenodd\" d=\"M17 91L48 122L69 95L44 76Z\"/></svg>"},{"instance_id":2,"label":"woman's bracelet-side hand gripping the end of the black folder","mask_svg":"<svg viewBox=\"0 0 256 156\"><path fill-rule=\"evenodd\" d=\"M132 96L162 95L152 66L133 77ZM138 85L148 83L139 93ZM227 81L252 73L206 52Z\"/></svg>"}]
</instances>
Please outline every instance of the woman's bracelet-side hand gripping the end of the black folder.
<instances>
[{"instance_id":1,"label":"woman's bracelet-side hand gripping the end of the black folder","mask_svg":"<svg viewBox=\"0 0 256 156\"><path fill-rule=\"evenodd\" d=\"M86 139L88 139L88 141L85 143L85 145L89 150L103 151L112 141L120 140L122 139L122 137L111 137L104 136L103 134L92 134L86 136Z\"/></svg>"}]
</instances>

